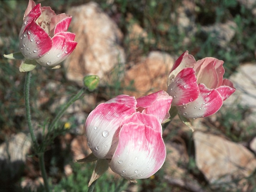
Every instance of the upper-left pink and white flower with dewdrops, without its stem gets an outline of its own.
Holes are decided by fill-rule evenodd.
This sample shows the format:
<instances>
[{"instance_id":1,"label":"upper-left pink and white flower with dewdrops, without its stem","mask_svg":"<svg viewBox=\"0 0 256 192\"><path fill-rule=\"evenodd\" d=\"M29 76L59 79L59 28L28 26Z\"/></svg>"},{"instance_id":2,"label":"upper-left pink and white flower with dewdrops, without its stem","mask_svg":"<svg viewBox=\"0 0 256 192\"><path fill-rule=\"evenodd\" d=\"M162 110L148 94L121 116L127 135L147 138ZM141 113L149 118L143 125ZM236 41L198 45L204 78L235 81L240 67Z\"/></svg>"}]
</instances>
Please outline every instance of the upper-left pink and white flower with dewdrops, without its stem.
<instances>
[{"instance_id":1,"label":"upper-left pink and white flower with dewdrops, without its stem","mask_svg":"<svg viewBox=\"0 0 256 192\"><path fill-rule=\"evenodd\" d=\"M71 18L64 13L56 15L50 7L30 0L19 34L24 57L50 68L66 59L77 44L75 34L67 32Z\"/></svg>"}]
</instances>

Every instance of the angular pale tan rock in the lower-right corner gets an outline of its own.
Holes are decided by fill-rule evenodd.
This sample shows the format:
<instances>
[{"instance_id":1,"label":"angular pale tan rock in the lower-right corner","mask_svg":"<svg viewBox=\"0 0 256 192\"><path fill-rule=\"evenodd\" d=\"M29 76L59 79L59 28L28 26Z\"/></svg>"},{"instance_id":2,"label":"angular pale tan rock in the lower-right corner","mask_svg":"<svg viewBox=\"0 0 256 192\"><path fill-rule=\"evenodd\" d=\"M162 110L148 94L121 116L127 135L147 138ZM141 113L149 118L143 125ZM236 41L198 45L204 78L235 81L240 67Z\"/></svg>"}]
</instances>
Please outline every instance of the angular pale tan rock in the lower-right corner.
<instances>
[{"instance_id":1,"label":"angular pale tan rock in the lower-right corner","mask_svg":"<svg viewBox=\"0 0 256 192\"><path fill-rule=\"evenodd\" d=\"M196 165L210 184L215 186L250 176L256 168L256 159L248 149L216 135L199 131L193 133Z\"/></svg>"}]
</instances>

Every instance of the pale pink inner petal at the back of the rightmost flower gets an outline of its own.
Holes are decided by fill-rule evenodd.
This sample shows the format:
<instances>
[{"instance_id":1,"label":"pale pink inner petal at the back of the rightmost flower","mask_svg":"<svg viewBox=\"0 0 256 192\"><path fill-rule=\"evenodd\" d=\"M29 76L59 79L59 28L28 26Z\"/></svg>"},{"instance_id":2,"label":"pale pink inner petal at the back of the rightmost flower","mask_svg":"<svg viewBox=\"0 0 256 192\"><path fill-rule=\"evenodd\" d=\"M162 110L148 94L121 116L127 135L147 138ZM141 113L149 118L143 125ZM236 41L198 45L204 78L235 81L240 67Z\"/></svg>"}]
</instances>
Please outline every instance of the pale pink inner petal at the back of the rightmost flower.
<instances>
[{"instance_id":1,"label":"pale pink inner petal at the back of the rightmost flower","mask_svg":"<svg viewBox=\"0 0 256 192\"><path fill-rule=\"evenodd\" d=\"M196 70L197 83L203 83L209 89L215 89L218 85L218 75L215 69L216 59L206 57L198 60L194 66Z\"/></svg>"}]
</instances>

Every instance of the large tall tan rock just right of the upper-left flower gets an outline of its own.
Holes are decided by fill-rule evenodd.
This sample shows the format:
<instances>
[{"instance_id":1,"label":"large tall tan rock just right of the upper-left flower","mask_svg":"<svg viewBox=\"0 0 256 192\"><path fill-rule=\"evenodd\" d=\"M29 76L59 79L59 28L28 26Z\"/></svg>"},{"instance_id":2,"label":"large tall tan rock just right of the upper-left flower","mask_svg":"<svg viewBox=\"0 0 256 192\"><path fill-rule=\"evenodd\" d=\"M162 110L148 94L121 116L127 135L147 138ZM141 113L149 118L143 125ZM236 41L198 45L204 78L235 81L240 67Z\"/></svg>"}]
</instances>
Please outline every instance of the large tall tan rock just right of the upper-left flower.
<instances>
[{"instance_id":1,"label":"large tall tan rock just right of the upper-left flower","mask_svg":"<svg viewBox=\"0 0 256 192\"><path fill-rule=\"evenodd\" d=\"M100 76L101 84L111 80L110 71L125 63L124 50L119 45L123 35L116 23L95 2L73 7L68 14L73 16L70 27L78 45L64 63L67 78L79 85L85 75Z\"/></svg>"}]
</instances>

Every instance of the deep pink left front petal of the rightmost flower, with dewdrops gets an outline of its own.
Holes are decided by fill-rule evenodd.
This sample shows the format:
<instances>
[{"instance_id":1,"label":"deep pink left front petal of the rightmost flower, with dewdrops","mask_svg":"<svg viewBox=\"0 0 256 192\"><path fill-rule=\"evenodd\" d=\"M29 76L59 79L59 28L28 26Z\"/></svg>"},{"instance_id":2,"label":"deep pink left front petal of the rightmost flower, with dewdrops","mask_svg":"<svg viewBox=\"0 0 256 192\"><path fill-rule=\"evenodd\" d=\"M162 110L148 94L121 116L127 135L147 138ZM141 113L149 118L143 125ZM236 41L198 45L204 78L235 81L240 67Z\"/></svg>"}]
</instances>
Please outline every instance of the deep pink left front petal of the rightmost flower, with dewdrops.
<instances>
[{"instance_id":1,"label":"deep pink left front petal of the rightmost flower, with dewdrops","mask_svg":"<svg viewBox=\"0 0 256 192\"><path fill-rule=\"evenodd\" d=\"M172 105L186 105L197 99L199 88L193 68L185 68L177 74L168 86L167 93L172 96Z\"/></svg>"}]
</instances>

